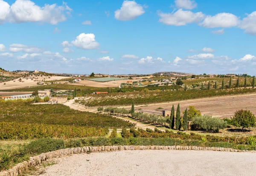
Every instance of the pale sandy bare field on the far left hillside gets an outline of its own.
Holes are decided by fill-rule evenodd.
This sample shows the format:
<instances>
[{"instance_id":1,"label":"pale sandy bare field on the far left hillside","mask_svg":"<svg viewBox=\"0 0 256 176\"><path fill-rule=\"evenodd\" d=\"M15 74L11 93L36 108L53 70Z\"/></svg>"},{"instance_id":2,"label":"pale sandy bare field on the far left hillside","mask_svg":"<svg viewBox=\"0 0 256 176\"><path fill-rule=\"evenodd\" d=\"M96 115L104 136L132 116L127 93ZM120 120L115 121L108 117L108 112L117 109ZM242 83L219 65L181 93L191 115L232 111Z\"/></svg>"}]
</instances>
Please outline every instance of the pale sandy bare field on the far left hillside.
<instances>
[{"instance_id":1,"label":"pale sandy bare field on the far left hillside","mask_svg":"<svg viewBox=\"0 0 256 176\"><path fill-rule=\"evenodd\" d=\"M35 79L37 78L37 79ZM0 83L0 90L7 90L7 89L18 89L23 87L30 87L30 86L36 86L38 81L53 81L53 80L60 80L68 77L64 76L51 76L50 78L48 76L35 76L33 80L29 77L27 78L21 78L21 82L19 81L20 78L15 79L14 81L7 81L4 83ZM38 81L35 81L38 80Z\"/></svg>"}]
</instances>

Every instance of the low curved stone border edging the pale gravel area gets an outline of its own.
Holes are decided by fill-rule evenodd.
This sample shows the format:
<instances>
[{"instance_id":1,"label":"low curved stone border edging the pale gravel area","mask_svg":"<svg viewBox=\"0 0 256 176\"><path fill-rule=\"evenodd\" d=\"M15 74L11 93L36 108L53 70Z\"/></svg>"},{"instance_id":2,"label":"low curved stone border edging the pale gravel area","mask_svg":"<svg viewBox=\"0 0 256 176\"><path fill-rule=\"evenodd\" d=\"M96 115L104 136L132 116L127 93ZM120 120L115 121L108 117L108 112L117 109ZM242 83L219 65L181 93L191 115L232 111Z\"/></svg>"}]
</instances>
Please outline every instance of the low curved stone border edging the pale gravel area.
<instances>
[{"instance_id":1,"label":"low curved stone border edging the pale gravel area","mask_svg":"<svg viewBox=\"0 0 256 176\"><path fill-rule=\"evenodd\" d=\"M250 152L256 153L255 150L236 150L232 148L223 147L197 147L197 146L156 146L156 145L128 145L128 146L102 146L102 147L76 147L76 148L66 148L61 150L56 150L47 153L41 153L38 156L30 157L29 161L24 161L22 163L16 164L12 169L0 172L0 176L18 176L18 174L27 170L29 167L35 167L41 162L48 159L57 158L60 156L67 156L77 153L87 153L87 152L102 152L102 151L119 151L119 150L213 150L222 152Z\"/></svg>"}]
</instances>

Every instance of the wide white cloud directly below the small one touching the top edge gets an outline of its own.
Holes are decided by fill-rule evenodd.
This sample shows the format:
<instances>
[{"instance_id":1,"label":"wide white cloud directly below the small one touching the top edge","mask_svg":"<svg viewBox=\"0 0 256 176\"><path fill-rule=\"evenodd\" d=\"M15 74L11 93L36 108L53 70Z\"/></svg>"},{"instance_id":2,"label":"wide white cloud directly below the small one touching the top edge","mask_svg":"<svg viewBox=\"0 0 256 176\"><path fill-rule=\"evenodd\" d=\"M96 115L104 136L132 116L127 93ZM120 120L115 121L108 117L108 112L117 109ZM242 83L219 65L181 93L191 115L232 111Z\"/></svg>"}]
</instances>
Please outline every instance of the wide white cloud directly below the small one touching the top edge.
<instances>
[{"instance_id":1,"label":"wide white cloud directly below the small one touching the top edge","mask_svg":"<svg viewBox=\"0 0 256 176\"><path fill-rule=\"evenodd\" d=\"M183 11L178 9L175 13L162 13L158 12L160 17L159 22L166 25L184 26L187 23L199 23L204 19L204 14L202 12L193 13L191 11Z\"/></svg>"}]
</instances>

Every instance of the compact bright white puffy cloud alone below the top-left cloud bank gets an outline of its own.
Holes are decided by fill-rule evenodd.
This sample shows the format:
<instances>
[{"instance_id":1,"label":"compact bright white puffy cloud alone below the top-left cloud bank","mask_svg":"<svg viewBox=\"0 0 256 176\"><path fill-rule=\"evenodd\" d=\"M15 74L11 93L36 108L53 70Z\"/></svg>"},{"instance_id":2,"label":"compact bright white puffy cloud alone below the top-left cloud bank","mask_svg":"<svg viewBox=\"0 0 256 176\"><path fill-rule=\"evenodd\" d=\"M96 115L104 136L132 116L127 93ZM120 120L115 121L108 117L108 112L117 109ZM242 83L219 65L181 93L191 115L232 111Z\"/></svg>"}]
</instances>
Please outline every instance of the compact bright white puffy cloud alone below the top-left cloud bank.
<instances>
[{"instance_id":1,"label":"compact bright white puffy cloud alone below the top-left cloud bank","mask_svg":"<svg viewBox=\"0 0 256 176\"><path fill-rule=\"evenodd\" d=\"M76 37L76 40L73 40L71 43L81 49L97 49L99 47L99 43L96 42L94 34L81 33Z\"/></svg>"}]
</instances>

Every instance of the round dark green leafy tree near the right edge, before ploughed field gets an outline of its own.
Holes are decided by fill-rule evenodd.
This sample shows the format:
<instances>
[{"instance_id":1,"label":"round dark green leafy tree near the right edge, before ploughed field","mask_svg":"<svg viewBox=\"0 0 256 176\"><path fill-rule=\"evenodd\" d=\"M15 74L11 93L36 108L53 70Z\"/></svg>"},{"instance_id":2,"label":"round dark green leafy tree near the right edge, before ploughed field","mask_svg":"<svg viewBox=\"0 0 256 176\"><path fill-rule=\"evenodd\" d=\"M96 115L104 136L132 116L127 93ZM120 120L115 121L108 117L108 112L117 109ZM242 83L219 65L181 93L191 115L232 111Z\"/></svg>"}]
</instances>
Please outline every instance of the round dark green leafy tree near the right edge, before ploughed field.
<instances>
[{"instance_id":1,"label":"round dark green leafy tree near the right edge, before ploughed field","mask_svg":"<svg viewBox=\"0 0 256 176\"><path fill-rule=\"evenodd\" d=\"M250 110L238 110L235 112L231 122L236 127L248 128L255 127L256 118Z\"/></svg>"}]
</instances>

